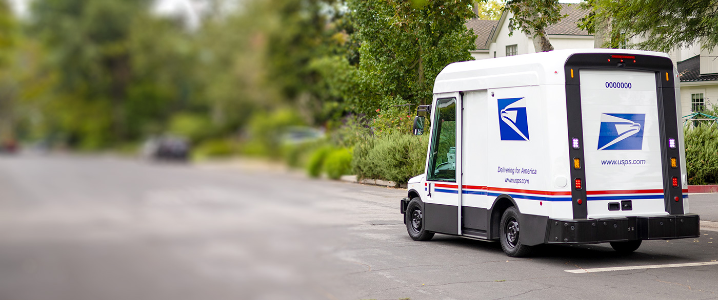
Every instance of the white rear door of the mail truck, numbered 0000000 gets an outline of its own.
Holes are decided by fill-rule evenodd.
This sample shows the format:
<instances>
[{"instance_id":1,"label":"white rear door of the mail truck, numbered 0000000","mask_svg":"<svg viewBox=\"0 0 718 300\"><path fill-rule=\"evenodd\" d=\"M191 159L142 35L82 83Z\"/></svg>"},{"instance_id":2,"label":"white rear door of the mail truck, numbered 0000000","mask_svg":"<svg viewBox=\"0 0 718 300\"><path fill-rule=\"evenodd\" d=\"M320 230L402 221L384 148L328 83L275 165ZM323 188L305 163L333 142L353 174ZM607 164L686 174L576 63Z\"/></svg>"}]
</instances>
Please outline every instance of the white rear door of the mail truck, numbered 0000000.
<instances>
[{"instance_id":1,"label":"white rear door of the mail truck, numbered 0000000","mask_svg":"<svg viewBox=\"0 0 718 300\"><path fill-rule=\"evenodd\" d=\"M666 215L656 72L579 72L588 218Z\"/></svg>"}]
</instances>

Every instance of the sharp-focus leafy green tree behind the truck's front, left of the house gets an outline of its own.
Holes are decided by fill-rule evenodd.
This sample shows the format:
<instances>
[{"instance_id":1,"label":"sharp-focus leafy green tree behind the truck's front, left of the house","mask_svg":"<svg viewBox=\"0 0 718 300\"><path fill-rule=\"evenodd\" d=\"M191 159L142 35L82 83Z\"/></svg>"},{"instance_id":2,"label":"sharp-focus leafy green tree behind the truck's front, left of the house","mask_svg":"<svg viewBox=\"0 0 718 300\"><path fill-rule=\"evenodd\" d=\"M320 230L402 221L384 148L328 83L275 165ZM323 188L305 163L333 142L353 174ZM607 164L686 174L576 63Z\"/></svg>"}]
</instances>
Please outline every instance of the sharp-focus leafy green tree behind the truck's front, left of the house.
<instances>
[{"instance_id":1,"label":"sharp-focus leafy green tree behind the truck's front, left of the house","mask_svg":"<svg viewBox=\"0 0 718 300\"><path fill-rule=\"evenodd\" d=\"M359 112L432 100L437 74L452 62L472 60L476 35L465 20L472 1L350 0L360 41Z\"/></svg>"}]
</instances>

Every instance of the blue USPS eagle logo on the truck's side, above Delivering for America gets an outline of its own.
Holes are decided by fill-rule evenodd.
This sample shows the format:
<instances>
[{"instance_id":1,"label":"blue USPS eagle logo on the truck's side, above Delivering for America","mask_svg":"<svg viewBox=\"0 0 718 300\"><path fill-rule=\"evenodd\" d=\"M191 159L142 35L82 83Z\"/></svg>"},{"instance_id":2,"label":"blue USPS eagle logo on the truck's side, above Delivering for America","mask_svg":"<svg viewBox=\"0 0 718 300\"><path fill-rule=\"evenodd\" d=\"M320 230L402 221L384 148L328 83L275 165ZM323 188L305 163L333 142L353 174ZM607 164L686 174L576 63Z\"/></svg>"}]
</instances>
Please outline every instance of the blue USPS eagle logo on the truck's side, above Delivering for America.
<instances>
[{"instance_id":1,"label":"blue USPS eagle logo on the truck's side, above Delivering for America","mask_svg":"<svg viewBox=\"0 0 718 300\"><path fill-rule=\"evenodd\" d=\"M498 99L498 119L501 140L528 140L525 99Z\"/></svg>"}]
</instances>

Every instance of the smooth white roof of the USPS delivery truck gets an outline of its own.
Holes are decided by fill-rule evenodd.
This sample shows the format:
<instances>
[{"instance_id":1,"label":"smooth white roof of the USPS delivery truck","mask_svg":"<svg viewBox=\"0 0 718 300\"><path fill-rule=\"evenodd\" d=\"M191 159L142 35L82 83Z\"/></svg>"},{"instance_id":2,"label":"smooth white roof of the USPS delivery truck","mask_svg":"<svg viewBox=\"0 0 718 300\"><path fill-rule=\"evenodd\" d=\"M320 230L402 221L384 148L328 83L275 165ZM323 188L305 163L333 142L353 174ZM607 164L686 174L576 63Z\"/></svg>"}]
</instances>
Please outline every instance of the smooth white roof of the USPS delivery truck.
<instances>
[{"instance_id":1,"label":"smooth white roof of the USPS delivery truck","mask_svg":"<svg viewBox=\"0 0 718 300\"><path fill-rule=\"evenodd\" d=\"M668 57L663 52L629 49L565 49L532 54L454 62L437 75L434 94L538 84L565 84L564 64L572 54L641 54Z\"/></svg>"}]
</instances>

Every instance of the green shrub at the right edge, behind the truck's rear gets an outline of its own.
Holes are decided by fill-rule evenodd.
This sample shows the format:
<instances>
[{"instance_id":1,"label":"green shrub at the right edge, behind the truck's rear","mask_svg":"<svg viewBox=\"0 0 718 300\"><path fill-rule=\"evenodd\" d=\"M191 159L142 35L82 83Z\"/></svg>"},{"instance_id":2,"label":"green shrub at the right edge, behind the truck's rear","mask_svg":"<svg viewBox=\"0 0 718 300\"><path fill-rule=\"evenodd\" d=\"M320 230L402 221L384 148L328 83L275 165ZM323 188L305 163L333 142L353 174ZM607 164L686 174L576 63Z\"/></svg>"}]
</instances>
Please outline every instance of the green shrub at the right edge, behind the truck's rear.
<instances>
[{"instance_id":1,"label":"green shrub at the right edge, behind the truck's rear","mask_svg":"<svg viewBox=\"0 0 718 300\"><path fill-rule=\"evenodd\" d=\"M718 128L684 128L686 170L690 185L718 182Z\"/></svg>"}]
</instances>

